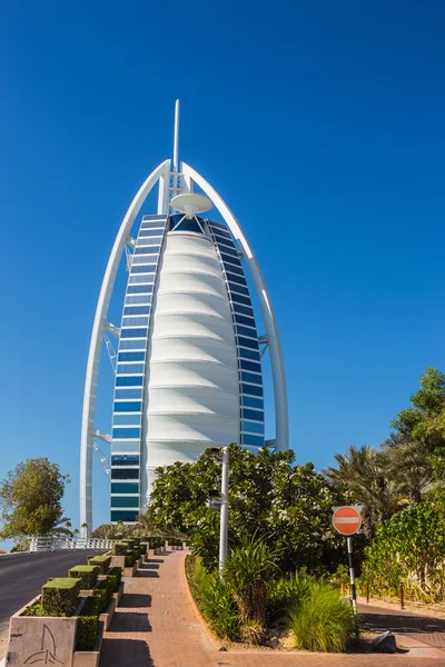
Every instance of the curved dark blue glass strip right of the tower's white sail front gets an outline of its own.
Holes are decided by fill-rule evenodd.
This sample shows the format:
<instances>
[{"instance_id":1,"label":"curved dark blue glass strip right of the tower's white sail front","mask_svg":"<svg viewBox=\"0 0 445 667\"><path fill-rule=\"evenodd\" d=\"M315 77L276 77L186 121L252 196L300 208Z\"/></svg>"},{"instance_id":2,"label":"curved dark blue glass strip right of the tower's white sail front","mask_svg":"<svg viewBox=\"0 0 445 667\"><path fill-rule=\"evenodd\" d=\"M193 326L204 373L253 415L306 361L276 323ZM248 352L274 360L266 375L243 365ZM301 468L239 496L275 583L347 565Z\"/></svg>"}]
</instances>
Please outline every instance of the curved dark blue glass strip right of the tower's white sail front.
<instances>
[{"instance_id":1,"label":"curved dark blue glass strip right of the tower's white sail front","mask_svg":"<svg viewBox=\"0 0 445 667\"><path fill-rule=\"evenodd\" d=\"M258 332L238 249L226 225L207 221L226 275L238 351L241 445L264 446L263 374Z\"/></svg>"}]
</instances>

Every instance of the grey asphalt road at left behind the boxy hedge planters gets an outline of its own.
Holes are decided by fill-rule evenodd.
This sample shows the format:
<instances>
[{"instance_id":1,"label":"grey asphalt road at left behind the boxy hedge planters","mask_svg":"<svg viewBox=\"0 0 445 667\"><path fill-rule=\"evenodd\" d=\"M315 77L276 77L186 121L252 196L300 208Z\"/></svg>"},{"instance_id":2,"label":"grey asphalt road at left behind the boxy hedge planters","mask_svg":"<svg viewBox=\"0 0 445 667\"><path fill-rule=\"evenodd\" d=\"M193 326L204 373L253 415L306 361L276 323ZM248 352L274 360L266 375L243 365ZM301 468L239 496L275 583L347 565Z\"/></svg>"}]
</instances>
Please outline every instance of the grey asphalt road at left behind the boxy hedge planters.
<instances>
[{"instance_id":1,"label":"grey asphalt road at left behind the boxy hedge planters","mask_svg":"<svg viewBox=\"0 0 445 667\"><path fill-rule=\"evenodd\" d=\"M87 556L103 554L88 549L0 556L0 638L9 630L9 617L39 595L48 577L67 577L75 565L87 565Z\"/></svg>"}]
</instances>

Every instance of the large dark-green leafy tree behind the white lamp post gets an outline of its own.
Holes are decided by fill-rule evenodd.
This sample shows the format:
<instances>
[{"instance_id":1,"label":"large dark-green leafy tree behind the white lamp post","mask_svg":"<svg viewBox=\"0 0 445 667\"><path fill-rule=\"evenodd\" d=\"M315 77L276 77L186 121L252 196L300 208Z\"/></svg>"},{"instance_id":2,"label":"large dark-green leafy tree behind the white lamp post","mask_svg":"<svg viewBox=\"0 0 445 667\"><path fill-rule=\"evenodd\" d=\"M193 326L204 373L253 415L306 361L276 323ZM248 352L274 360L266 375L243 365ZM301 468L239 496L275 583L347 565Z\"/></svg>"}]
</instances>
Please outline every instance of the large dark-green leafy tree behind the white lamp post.
<instances>
[{"instance_id":1,"label":"large dark-green leafy tree behind the white lamp post","mask_svg":"<svg viewBox=\"0 0 445 667\"><path fill-rule=\"evenodd\" d=\"M230 446L229 545L258 534L278 549L280 567L336 567L343 540L332 528L332 506L344 498L329 488L314 466L294 465L293 451L254 455ZM197 462L158 468L148 518L152 526L188 535L205 567L218 559L219 516L207 507L218 489L221 454L206 450Z\"/></svg>"}]
</instances>

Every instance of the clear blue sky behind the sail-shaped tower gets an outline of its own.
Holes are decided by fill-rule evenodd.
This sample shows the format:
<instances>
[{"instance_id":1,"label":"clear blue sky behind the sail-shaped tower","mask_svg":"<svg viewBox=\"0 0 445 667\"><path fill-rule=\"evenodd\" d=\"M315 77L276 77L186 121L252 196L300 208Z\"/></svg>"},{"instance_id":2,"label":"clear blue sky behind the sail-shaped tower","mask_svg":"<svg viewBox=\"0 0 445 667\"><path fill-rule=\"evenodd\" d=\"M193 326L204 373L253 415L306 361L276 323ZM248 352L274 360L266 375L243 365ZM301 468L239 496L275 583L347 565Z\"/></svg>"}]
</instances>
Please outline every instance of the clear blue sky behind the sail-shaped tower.
<instances>
[{"instance_id":1,"label":"clear blue sky behind the sail-shaped tower","mask_svg":"<svg viewBox=\"0 0 445 667\"><path fill-rule=\"evenodd\" d=\"M425 367L445 368L444 21L439 1L3 0L0 477L58 461L78 525L96 301L127 207L171 155L177 97L180 157L268 282L297 460L387 436Z\"/></svg>"}]
</instances>

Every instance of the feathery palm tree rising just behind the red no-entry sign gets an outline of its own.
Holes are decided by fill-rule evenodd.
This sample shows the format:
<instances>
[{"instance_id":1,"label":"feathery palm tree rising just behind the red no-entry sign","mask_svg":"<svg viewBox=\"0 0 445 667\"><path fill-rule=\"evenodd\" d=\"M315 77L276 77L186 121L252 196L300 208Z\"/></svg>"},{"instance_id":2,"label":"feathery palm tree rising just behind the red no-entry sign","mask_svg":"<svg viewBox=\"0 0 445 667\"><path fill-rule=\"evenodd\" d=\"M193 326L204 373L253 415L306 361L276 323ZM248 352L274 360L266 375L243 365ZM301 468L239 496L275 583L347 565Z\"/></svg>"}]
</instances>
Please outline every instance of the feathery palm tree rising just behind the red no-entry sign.
<instances>
[{"instance_id":1,"label":"feathery palm tree rising just behind the red no-entry sign","mask_svg":"<svg viewBox=\"0 0 445 667\"><path fill-rule=\"evenodd\" d=\"M353 501L363 506L363 527L373 537L376 524L388 519L399 509L397 485L386 475L382 452L369 445L350 446L346 454L336 454L337 468L324 474L329 481L350 492Z\"/></svg>"}]
</instances>

